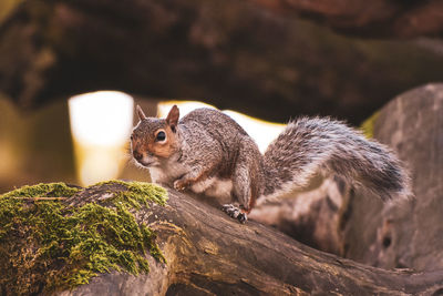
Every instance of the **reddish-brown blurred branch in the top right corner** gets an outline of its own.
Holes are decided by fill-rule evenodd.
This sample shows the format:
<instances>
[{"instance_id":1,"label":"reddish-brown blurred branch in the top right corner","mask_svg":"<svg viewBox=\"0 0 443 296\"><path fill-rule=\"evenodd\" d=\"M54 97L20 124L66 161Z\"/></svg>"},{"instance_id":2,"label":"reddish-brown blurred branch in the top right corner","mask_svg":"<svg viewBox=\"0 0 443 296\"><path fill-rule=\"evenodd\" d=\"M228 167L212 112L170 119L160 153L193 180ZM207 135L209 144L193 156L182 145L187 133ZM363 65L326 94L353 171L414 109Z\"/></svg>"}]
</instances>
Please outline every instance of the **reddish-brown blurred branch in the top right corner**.
<instances>
[{"instance_id":1,"label":"reddish-brown blurred branch in the top right corner","mask_svg":"<svg viewBox=\"0 0 443 296\"><path fill-rule=\"evenodd\" d=\"M373 0L249 0L284 16L306 17L350 35L443 37L443 2Z\"/></svg>"}]
</instances>

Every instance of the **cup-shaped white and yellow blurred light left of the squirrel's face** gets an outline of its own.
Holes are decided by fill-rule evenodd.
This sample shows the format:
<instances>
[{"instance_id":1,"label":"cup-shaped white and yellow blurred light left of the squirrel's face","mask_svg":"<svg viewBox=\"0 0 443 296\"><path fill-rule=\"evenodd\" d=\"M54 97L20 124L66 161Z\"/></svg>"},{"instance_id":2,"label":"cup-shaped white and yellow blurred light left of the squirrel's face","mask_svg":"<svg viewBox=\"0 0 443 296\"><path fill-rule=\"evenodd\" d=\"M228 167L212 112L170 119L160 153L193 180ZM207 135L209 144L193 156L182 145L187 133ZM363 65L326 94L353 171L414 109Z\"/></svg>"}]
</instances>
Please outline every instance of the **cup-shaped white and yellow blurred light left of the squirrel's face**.
<instances>
[{"instance_id":1,"label":"cup-shaped white and yellow blurred light left of the squirrel's face","mask_svg":"<svg viewBox=\"0 0 443 296\"><path fill-rule=\"evenodd\" d=\"M69 100L76 170L83 185L119 176L132 130L134 100L100 91Z\"/></svg>"}]
</instances>

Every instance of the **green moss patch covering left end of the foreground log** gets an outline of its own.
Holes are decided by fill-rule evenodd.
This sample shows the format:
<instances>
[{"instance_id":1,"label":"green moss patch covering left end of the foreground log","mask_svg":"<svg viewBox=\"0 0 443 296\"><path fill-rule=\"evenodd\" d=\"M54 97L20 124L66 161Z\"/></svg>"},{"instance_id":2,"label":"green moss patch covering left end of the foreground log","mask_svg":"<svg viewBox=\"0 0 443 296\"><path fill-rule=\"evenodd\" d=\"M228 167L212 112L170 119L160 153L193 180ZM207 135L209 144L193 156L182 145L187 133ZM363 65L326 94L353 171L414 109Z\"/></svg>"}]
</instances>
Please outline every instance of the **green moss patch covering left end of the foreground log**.
<instances>
[{"instance_id":1,"label":"green moss patch covering left end of the foreground log","mask_svg":"<svg viewBox=\"0 0 443 296\"><path fill-rule=\"evenodd\" d=\"M155 234L133 212L150 201L164 205L166 191L140 182L123 185L103 206L70 207L63 201L20 197L70 197L80 192L63 183L24 186L0 196L0 290L39 294L73 288L111 271L148 272L145 254L165 262Z\"/></svg>"}]
</instances>

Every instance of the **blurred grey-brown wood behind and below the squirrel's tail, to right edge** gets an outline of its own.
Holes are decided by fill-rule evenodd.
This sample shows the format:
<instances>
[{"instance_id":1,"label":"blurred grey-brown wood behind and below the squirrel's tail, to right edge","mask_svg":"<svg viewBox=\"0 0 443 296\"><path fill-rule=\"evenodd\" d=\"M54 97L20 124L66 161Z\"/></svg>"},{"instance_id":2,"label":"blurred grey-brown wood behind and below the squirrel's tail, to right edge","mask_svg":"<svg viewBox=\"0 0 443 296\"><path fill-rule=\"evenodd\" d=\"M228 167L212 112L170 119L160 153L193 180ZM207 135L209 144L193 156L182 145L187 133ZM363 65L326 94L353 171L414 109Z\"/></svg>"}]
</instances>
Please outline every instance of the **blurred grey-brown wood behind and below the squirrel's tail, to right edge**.
<instances>
[{"instance_id":1,"label":"blurred grey-brown wood behind and below the squirrel's tail, to right edge","mask_svg":"<svg viewBox=\"0 0 443 296\"><path fill-rule=\"evenodd\" d=\"M415 198L378 196L328 178L311 192L253 212L296 239L381 268L443 268L443 84L399 95L372 120L373 136L411 171Z\"/></svg>"}]
</instances>

